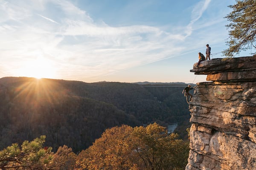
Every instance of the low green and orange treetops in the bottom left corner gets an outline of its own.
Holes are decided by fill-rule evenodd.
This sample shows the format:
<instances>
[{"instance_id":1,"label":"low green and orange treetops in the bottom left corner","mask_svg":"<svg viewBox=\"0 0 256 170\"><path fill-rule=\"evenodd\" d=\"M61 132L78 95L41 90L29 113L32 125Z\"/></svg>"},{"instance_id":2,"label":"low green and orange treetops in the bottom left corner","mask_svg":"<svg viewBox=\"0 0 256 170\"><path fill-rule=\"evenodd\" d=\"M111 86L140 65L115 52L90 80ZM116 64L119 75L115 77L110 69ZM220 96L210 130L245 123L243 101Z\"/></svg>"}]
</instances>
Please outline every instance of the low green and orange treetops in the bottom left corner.
<instances>
[{"instance_id":1,"label":"low green and orange treetops in the bottom left corner","mask_svg":"<svg viewBox=\"0 0 256 170\"><path fill-rule=\"evenodd\" d=\"M76 154L66 145L56 153L52 147L44 147L46 136L33 141L17 143L0 151L0 170L73 170L76 167Z\"/></svg>"}]
</instances>

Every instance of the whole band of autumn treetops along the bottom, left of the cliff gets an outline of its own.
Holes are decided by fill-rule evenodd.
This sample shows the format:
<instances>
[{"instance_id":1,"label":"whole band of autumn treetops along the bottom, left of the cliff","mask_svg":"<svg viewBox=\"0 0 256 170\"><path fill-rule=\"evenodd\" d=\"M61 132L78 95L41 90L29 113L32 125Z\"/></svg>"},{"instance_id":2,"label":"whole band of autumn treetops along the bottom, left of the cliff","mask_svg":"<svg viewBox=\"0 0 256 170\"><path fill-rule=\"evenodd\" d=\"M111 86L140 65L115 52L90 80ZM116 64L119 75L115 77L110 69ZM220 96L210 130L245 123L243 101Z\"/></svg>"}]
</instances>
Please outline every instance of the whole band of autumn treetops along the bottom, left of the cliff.
<instances>
[{"instance_id":1,"label":"whole band of autumn treetops along the bottom, left of the cliff","mask_svg":"<svg viewBox=\"0 0 256 170\"><path fill-rule=\"evenodd\" d=\"M92 146L76 155L64 145L56 153L46 136L15 143L0 151L0 170L183 170L188 143L157 123L122 125L105 130Z\"/></svg>"}]
</instances>

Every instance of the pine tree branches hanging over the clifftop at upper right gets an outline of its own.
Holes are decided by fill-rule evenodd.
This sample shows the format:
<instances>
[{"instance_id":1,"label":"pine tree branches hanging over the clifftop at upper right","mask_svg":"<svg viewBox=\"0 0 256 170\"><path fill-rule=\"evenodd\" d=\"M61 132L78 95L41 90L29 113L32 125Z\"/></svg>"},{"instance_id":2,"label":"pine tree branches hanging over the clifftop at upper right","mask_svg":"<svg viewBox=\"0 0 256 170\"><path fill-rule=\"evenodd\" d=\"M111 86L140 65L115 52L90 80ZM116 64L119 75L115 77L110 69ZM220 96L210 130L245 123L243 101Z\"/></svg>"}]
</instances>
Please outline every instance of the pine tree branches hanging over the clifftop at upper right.
<instances>
[{"instance_id":1,"label":"pine tree branches hanging over the clifftop at upper right","mask_svg":"<svg viewBox=\"0 0 256 170\"><path fill-rule=\"evenodd\" d=\"M235 5L230 5L233 9L225 18L231 23L226 25L231 28L224 55L232 57L239 54L241 50L256 48L253 43L256 41L256 0L236 0ZM252 53L256 54L256 53Z\"/></svg>"}]
</instances>

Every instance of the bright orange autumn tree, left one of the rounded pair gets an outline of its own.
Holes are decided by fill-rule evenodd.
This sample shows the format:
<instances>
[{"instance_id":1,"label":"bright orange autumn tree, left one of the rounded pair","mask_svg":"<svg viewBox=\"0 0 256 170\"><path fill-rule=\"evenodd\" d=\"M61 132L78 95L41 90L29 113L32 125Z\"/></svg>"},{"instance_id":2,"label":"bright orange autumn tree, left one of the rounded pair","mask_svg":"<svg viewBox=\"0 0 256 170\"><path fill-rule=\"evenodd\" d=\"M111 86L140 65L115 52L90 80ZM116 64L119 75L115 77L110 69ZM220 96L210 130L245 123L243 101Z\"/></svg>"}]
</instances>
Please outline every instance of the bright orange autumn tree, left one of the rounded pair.
<instances>
[{"instance_id":1,"label":"bright orange autumn tree, left one of the rounded pair","mask_svg":"<svg viewBox=\"0 0 256 170\"><path fill-rule=\"evenodd\" d=\"M130 126L112 127L92 146L78 155L78 165L86 170L138 170L132 146Z\"/></svg>"}]
</instances>

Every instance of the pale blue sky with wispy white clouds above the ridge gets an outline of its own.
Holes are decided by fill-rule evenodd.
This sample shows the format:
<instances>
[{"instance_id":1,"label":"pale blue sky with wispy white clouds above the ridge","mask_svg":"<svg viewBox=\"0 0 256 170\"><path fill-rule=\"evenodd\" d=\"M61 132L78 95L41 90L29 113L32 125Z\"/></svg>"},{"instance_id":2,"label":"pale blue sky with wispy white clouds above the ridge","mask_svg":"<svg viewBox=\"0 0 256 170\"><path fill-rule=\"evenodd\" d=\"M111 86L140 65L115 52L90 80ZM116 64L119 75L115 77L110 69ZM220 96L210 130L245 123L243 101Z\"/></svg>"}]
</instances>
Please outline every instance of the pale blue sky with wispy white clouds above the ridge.
<instances>
[{"instance_id":1,"label":"pale blue sky with wispy white clouds above the ridge","mask_svg":"<svg viewBox=\"0 0 256 170\"><path fill-rule=\"evenodd\" d=\"M0 77L83 82L206 81L223 58L235 0L0 0ZM249 51L236 57L250 56Z\"/></svg>"}]
</instances>

